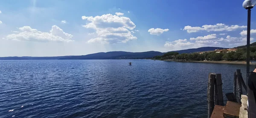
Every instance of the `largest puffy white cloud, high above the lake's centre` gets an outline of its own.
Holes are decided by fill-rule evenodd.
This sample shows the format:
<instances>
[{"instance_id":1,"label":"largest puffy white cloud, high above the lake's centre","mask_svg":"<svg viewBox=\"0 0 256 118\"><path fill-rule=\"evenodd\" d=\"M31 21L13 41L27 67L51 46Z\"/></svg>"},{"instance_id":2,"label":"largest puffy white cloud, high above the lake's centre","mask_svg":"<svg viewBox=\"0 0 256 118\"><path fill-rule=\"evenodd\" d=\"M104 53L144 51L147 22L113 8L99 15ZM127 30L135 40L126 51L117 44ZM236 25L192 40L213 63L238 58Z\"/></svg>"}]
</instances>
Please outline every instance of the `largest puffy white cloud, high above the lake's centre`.
<instances>
[{"instance_id":1,"label":"largest puffy white cloud, high above the lake's centre","mask_svg":"<svg viewBox=\"0 0 256 118\"><path fill-rule=\"evenodd\" d=\"M96 17L82 16L82 19L90 22L83 27L95 29L98 35L90 39L88 43L126 43L137 39L130 32L136 25L128 17L103 14Z\"/></svg>"}]
</instances>

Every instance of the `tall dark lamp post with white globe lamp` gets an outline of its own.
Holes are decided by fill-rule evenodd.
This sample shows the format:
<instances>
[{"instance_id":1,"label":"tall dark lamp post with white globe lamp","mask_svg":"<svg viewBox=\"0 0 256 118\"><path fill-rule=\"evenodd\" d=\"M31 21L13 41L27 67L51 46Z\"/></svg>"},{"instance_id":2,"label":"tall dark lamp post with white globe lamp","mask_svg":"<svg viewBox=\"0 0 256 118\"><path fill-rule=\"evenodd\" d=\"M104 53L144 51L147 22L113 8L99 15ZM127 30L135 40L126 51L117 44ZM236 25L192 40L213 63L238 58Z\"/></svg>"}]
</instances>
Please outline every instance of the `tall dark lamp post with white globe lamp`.
<instances>
[{"instance_id":1,"label":"tall dark lamp post with white globe lamp","mask_svg":"<svg viewBox=\"0 0 256 118\"><path fill-rule=\"evenodd\" d=\"M244 3L243 3L243 7L245 9L248 10L248 16L247 16L247 57L246 57L246 81L248 81L249 79L249 75L250 75L250 12L251 12L251 9L253 8L253 6L255 6L256 4L256 1L255 0L244 0ZM256 113L255 112L255 102L254 101L254 95L253 95L253 92L252 90L250 90L248 88L248 85L247 85L247 91L248 91L248 106L249 106L249 109L248 109L248 118L253 118L253 114Z\"/></svg>"}]
</instances>

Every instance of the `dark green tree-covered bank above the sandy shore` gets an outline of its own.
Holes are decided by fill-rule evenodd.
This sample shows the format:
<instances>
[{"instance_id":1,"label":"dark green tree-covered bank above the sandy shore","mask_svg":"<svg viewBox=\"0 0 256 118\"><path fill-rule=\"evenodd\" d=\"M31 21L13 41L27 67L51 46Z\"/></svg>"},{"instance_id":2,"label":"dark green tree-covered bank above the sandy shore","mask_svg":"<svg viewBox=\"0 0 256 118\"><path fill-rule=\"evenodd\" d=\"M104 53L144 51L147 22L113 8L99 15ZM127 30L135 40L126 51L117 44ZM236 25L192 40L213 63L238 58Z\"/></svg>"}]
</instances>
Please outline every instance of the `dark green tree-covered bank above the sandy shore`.
<instances>
[{"instance_id":1,"label":"dark green tree-covered bank above the sandy shore","mask_svg":"<svg viewBox=\"0 0 256 118\"><path fill-rule=\"evenodd\" d=\"M174 59L174 60L246 60L246 48L241 48L236 50L236 52L227 52L227 53L216 53L216 52L206 52L203 54L199 53L192 53L186 54L182 53L179 54L177 52L168 52L163 56L155 56L154 58L157 60L167 60L167 59ZM250 59L256 58L256 46L250 47Z\"/></svg>"}]
</instances>

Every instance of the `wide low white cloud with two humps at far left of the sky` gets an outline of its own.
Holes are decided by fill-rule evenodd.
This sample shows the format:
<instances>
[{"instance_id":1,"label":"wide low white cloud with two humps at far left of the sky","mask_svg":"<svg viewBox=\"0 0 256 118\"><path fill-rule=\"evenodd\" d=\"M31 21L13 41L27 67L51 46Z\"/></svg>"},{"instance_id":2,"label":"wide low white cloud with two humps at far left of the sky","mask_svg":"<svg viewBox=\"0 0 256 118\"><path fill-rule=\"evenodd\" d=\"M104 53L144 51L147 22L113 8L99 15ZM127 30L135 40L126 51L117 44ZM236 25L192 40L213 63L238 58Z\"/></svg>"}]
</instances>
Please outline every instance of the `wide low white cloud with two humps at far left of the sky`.
<instances>
[{"instance_id":1,"label":"wide low white cloud with two humps at far left of the sky","mask_svg":"<svg viewBox=\"0 0 256 118\"><path fill-rule=\"evenodd\" d=\"M50 32L41 32L37 29L32 29L30 26L18 28L20 33L7 35L7 40L26 40L26 41L58 41L70 42L73 35L63 32L58 26L52 26Z\"/></svg>"}]
</instances>

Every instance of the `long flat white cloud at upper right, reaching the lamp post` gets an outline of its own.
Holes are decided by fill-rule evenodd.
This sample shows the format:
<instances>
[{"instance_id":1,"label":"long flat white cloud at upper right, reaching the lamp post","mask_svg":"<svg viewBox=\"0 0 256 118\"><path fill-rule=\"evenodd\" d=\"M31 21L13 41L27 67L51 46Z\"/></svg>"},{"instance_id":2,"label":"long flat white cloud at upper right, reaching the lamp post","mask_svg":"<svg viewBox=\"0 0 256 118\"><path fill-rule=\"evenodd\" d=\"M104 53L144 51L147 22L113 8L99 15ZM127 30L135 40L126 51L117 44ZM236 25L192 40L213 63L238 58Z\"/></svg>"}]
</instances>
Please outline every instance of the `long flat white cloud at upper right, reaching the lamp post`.
<instances>
[{"instance_id":1,"label":"long flat white cloud at upper right, reaching the lamp post","mask_svg":"<svg viewBox=\"0 0 256 118\"><path fill-rule=\"evenodd\" d=\"M202 27L185 26L183 30L186 30L188 33L192 33L192 32L199 32L199 31L207 31L207 32L234 31L236 29L243 29L243 28L247 28L247 26L238 26L238 25L227 26L223 23L217 23L215 25L204 25Z\"/></svg>"}]
</instances>

